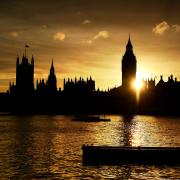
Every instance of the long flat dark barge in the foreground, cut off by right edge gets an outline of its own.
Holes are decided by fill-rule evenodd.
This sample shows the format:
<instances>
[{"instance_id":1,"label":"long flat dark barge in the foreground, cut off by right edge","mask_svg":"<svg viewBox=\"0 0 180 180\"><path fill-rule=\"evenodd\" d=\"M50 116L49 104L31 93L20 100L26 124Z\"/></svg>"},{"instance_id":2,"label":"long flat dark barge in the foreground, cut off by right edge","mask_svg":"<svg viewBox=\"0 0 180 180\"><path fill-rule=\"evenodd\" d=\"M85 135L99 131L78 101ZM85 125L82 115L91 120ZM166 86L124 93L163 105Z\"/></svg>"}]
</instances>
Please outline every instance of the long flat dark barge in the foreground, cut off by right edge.
<instances>
[{"instance_id":1,"label":"long flat dark barge in the foreground, cut off by right edge","mask_svg":"<svg viewBox=\"0 0 180 180\"><path fill-rule=\"evenodd\" d=\"M83 145L83 164L179 165L180 147L129 147Z\"/></svg>"}]
</instances>

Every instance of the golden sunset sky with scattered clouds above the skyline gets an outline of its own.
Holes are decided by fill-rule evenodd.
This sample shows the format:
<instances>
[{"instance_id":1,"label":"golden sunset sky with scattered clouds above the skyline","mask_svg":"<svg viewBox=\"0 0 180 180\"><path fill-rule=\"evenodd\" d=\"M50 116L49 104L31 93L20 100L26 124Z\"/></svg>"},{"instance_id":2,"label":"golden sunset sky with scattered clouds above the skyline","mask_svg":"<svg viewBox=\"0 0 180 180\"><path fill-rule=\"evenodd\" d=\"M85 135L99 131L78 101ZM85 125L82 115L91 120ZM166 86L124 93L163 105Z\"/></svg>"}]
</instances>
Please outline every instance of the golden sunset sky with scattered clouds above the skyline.
<instances>
[{"instance_id":1,"label":"golden sunset sky with scattered clouds above the skyline","mask_svg":"<svg viewBox=\"0 0 180 180\"><path fill-rule=\"evenodd\" d=\"M129 34L138 78L180 80L178 0L1 1L0 91L15 82L25 44L35 59L35 84L47 79L53 59L61 89L64 78L80 76L92 76L101 90L117 87Z\"/></svg>"}]
</instances>

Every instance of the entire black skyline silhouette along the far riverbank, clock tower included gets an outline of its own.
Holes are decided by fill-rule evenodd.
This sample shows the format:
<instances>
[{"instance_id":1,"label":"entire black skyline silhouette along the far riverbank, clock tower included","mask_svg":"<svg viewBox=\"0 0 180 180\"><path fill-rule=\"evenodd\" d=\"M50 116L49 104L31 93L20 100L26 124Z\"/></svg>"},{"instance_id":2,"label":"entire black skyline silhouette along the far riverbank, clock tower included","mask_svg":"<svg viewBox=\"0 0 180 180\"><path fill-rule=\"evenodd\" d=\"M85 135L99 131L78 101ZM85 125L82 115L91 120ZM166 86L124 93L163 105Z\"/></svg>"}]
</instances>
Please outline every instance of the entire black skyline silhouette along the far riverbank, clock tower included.
<instances>
[{"instance_id":1,"label":"entire black skyline silhouette along the far riverbank, clock tower included","mask_svg":"<svg viewBox=\"0 0 180 180\"><path fill-rule=\"evenodd\" d=\"M132 88L132 82L136 81L137 59L130 37L121 60L122 85L108 91L96 89L91 76L86 79L64 78L63 89L58 88L53 61L47 80L39 79L34 85L34 64L34 57L29 62L26 53L21 61L17 57L16 82L10 83L5 96L0 96L7 109L9 104L11 110L16 106L21 106L21 110L27 109L22 107L27 103L27 98L29 105L33 105L31 107L42 112L178 113L180 109L180 82L173 75L169 76L168 81L164 81L163 76L158 82L155 78L143 79L137 102L137 92Z\"/></svg>"}]
</instances>

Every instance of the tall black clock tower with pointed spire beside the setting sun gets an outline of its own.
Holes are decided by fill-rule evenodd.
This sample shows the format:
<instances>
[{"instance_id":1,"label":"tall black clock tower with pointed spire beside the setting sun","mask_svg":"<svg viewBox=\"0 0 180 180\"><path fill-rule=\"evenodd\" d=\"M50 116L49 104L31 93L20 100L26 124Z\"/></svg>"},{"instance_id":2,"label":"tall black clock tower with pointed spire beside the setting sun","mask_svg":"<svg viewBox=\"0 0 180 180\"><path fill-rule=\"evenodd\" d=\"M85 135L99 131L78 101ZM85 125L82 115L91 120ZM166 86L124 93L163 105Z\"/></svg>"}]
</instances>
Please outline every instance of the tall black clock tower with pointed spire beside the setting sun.
<instances>
[{"instance_id":1,"label":"tall black clock tower with pointed spire beside the setting sun","mask_svg":"<svg viewBox=\"0 0 180 180\"><path fill-rule=\"evenodd\" d=\"M129 37L126 52L122 58L122 87L130 88L136 80L136 57Z\"/></svg>"}]
</instances>

